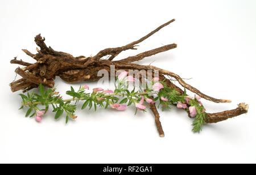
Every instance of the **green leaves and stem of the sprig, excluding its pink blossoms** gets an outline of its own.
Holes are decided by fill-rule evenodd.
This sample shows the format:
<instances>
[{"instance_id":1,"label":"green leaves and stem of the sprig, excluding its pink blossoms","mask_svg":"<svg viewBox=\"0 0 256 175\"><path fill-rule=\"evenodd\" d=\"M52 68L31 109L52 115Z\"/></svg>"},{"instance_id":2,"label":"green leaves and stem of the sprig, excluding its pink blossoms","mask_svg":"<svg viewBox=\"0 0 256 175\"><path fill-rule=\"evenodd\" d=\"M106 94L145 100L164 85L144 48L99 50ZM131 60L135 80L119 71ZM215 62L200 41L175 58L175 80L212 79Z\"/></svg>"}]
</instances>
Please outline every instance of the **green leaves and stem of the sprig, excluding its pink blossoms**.
<instances>
[{"instance_id":1,"label":"green leaves and stem of the sprig, excluding its pink blossoms","mask_svg":"<svg viewBox=\"0 0 256 175\"><path fill-rule=\"evenodd\" d=\"M81 109L94 109L97 108L108 108L109 105L118 103L126 104L127 106L139 103L139 100L144 97L153 98L155 102L158 102L159 106L162 106L162 109L170 109L171 105L176 105L178 102L185 103L185 97L187 93L184 89L184 93L180 94L176 89L168 87L164 82L160 82L164 85L164 88L160 89L159 92L154 92L151 88L147 88L144 91L133 90L129 91L127 87L122 82L117 82L115 85L114 93L106 94L104 92L92 92L88 93L85 91L84 87L81 87L75 91L71 86L71 89L66 92L67 95L71 96L71 99L63 99L59 92L56 92L55 88L44 88L42 84L39 85L39 94L38 93L27 93L27 95L20 94L22 97L22 109L24 106L28 107L26 112L26 117L33 117L36 114L37 110L44 110L45 113L49 109L49 105L52 106L52 112L55 113L55 119L59 119L61 116L65 115L65 122L69 121L69 118L76 118L75 112L77 108L77 103L82 101ZM153 83L154 84L154 83ZM168 101L161 100L160 97L168 99ZM75 104L71 104L72 101ZM38 105L44 106L43 109L39 109ZM195 106L197 114L192 123L194 132L200 132L201 127L204 125L207 115L205 109L202 105L199 104L199 101L196 99L191 99L189 101L190 106ZM188 109L187 112L189 112ZM143 110L144 112L144 110ZM135 111L137 113L137 109Z\"/></svg>"}]
</instances>

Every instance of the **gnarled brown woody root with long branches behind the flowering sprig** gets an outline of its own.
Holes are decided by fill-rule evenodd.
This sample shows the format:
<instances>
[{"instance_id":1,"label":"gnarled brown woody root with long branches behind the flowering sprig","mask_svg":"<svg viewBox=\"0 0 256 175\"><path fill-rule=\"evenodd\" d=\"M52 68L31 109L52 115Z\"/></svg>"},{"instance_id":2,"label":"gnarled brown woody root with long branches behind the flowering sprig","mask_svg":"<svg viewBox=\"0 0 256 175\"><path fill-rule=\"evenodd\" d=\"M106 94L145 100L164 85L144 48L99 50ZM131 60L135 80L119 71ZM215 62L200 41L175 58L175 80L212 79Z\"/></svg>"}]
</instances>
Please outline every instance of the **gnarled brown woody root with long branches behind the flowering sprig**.
<instances>
[{"instance_id":1,"label":"gnarled brown woody root with long branches behind the flowering sprig","mask_svg":"<svg viewBox=\"0 0 256 175\"><path fill-rule=\"evenodd\" d=\"M143 36L141 39L137 41L130 42L127 45L120 46L117 48L106 48L104 50L101 50L95 56L92 57L74 57L69 53L57 52L53 50L50 46L48 47L44 42L44 37L41 37L39 34L35 37L35 43L39 47L36 48L36 54L33 54L26 49L23 49L24 53L26 53L31 58L35 59L34 63L24 62L16 58L11 60L11 63L23 66L23 68L18 67L15 70L16 74L22 76L22 78L10 83L11 91L15 92L22 90L23 92L26 92L32 88L38 87L39 84L43 84L44 86L52 88L54 86L54 80L56 76L59 76L61 79L68 83L97 81L98 79L100 79L100 77L97 76L98 71L104 69L110 72L110 66L115 66L115 71L158 71L160 80L165 82L168 85L168 87L176 89L176 91L180 94L183 93L183 90L180 87L176 86L176 84L172 83L171 79L168 78L175 79L180 84L180 86L182 86L185 89L188 89L193 93L196 93L203 99L213 101L214 103L230 103L230 100L216 99L214 97L206 95L205 93L199 91L199 89L184 82L184 80L174 72L160 69L159 67L151 65L139 65L137 63L134 63L140 61L143 58L174 49L177 47L176 44L164 45L159 48L139 53L135 56L130 56L118 61L114 61L114 58L117 57L119 53L129 49L137 49L137 45L140 42L146 40L148 37L154 35L154 33L158 32L160 29L166 27L168 24L171 24L174 21L175 19L172 19L169 22L160 25L154 31L148 33L146 36ZM108 56L107 59L106 56ZM156 108L155 104L151 104L150 109L155 116L155 124L158 129L159 135L164 136L164 131L162 129L162 125L159 119L160 116L158 113L158 109ZM247 113L247 110L248 105L245 103L240 103L238 104L236 109L226 110L224 112L218 113L205 112L207 114L205 123L216 123L224 121L225 119L236 117L243 113Z\"/></svg>"}]
</instances>

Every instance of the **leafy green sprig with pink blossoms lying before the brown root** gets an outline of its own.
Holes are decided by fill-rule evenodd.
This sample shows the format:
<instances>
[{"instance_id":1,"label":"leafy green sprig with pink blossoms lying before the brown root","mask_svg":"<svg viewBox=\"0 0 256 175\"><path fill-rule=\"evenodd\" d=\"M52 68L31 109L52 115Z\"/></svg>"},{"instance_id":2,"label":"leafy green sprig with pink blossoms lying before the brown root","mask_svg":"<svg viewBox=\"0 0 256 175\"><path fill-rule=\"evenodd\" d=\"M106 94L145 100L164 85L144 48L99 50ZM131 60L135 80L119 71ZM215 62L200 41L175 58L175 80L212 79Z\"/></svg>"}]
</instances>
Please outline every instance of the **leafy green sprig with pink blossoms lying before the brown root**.
<instances>
[{"instance_id":1,"label":"leafy green sprig with pink blossoms lying before the brown root","mask_svg":"<svg viewBox=\"0 0 256 175\"><path fill-rule=\"evenodd\" d=\"M162 106L162 109L168 109L171 105L177 106L177 108L184 109L188 112L190 117L195 118L192 126L194 132L199 132L201 126L205 123L207 115L205 109L201 104L200 97L189 97L184 91L180 94L176 89L168 87L164 82L159 82L158 78L154 78L150 82L150 86L142 91L142 89L129 91L127 89L127 82L134 82L133 76L127 76L126 71L121 72L117 81L115 82L114 91L103 88L93 88L92 92L89 92L89 86L84 85L75 91L71 86L71 89L66 92L71 96L70 99L63 99L56 92L55 88L44 88L42 84L39 85L38 93L27 93L27 95L20 94L22 97L22 106L28 107L26 117L34 117L36 121L42 121L42 117L49 109L49 105L52 106L52 112L55 113L55 119L60 118L65 114L65 122L67 123L69 118L77 118L75 115L77 103L82 102L81 109L92 109L96 111L97 108L112 108L115 110L125 110L127 106L134 105L137 110L143 112L146 111L147 104L158 103L158 107ZM73 103L72 103L73 102ZM44 106L40 109L39 106ZM21 109L20 108L20 109ZM136 113L135 112L135 113ZM31 114L32 113L32 114Z\"/></svg>"}]
</instances>

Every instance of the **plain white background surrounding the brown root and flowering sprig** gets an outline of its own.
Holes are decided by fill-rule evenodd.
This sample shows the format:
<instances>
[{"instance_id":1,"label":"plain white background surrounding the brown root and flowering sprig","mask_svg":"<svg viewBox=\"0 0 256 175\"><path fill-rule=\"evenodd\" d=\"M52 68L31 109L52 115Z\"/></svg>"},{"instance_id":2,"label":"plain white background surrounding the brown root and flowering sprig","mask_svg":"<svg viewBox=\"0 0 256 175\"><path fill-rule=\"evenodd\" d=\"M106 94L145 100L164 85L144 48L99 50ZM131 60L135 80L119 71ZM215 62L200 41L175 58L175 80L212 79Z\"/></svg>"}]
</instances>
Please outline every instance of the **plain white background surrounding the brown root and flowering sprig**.
<instances>
[{"instance_id":1,"label":"plain white background surrounding the brown root and flowering sprig","mask_svg":"<svg viewBox=\"0 0 256 175\"><path fill-rule=\"evenodd\" d=\"M1 0L0 163L256 163L255 8L253 0ZM90 56L137 40L172 18L176 22L117 59L175 42L176 49L140 63L192 78L186 81L202 92L233 100L231 104L203 100L208 112L245 102L250 105L247 114L193 134L185 112L160 112L166 134L160 138L151 113L134 116L134 108L77 110L79 117L68 125L64 117L55 121L50 113L38 123L18 110L20 92L12 93L9 87L18 65L11 65L10 59L18 56L34 62L21 49L35 53L38 33L55 50ZM55 83L65 97L69 84L59 78Z\"/></svg>"}]
</instances>

